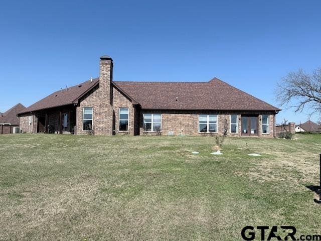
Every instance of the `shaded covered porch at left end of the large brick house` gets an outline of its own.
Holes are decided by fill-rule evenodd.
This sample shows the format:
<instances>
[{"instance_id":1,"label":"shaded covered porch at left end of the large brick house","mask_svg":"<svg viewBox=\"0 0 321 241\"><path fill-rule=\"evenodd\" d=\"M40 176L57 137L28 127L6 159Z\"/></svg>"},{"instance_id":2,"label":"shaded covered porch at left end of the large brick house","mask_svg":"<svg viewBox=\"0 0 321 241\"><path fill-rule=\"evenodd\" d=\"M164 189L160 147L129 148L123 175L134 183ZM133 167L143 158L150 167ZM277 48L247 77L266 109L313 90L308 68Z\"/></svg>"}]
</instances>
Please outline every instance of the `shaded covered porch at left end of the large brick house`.
<instances>
[{"instance_id":1,"label":"shaded covered porch at left end of the large brick house","mask_svg":"<svg viewBox=\"0 0 321 241\"><path fill-rule=\"evenodd\" d=\"M34 112L36 133L74 134L76 106L64 105Z\"/></svg>"}]
</instances>

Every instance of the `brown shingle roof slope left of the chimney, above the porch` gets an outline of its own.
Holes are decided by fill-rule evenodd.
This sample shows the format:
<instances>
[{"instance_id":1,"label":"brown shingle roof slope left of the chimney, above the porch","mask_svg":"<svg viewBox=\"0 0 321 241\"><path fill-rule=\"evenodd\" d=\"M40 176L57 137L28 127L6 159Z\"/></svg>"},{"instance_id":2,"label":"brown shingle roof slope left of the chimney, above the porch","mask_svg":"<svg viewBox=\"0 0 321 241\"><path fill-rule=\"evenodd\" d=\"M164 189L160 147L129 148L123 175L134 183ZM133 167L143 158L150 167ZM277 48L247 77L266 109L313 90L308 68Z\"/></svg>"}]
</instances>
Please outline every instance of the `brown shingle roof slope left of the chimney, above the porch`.
<instances>
[{"instance_id":1,"label":"brown shingle roof slope left of the chimney, above the porch","mask_svg":"<svg viewBox=\"0 0 321 241\"><path fill-rule=\"evenodd\" d=\"M58 90L38 102L30 105L20 113L27 113L41 109L47 109L67 104L75 103L84 93L95 87L99 83L99 78L93 79L92 82L87 80L81 84L68 87L68 90Z\"/></svg>"}]
</instances>

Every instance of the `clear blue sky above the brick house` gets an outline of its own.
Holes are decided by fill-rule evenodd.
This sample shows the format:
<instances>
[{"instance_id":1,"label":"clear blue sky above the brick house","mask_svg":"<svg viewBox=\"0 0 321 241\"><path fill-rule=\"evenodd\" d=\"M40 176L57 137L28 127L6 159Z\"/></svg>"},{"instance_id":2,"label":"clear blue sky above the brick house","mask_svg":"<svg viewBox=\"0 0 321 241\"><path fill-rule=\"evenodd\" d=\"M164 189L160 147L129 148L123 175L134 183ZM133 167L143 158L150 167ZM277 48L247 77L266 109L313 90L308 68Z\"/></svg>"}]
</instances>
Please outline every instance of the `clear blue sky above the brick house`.
<instances>
[{"instance_id":1,"label":"clear blue sky above the brick house","mask_svg":"<svg viewBox=\"0 0 321 241\"><path fill-rule=\"evenodd\" d=\"M282 76L321 66L320 26L319 0L1 1L0 111L97 77L104 54L114 80L216 76L278 106Z\"/></svg>"}]
</instances>

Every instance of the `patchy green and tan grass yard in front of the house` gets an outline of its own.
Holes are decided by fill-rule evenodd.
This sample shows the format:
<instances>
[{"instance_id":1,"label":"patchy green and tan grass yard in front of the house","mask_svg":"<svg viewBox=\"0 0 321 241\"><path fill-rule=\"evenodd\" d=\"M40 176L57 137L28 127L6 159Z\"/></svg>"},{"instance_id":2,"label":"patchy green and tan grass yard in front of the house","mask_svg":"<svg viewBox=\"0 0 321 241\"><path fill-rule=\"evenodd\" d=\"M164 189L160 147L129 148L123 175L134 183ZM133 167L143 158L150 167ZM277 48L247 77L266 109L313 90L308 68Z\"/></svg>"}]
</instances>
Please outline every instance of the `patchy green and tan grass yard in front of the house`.
<instances>
[{"instance_id":1,"label":"patchy green and tan grass yard in front of the house","mask_svg":"<svg viewBox=\"0 0 321 241\"><path fill-rule=\"evenodd\" d=\"M227 138L213 156L213 137L1 135L0 240L242 240L245 225L321 234L307 188L321 135L296 137Z\"/></svg>"}]
</instances>

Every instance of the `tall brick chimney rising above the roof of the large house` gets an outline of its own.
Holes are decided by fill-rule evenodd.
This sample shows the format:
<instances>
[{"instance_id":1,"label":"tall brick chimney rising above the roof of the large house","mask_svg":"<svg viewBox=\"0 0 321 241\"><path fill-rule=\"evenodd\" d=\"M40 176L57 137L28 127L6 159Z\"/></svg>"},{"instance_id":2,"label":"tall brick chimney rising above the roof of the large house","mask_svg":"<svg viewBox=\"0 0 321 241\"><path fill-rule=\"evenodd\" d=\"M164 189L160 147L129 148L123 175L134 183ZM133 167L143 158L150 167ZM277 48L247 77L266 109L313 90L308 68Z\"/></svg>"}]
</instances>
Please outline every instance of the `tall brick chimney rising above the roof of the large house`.
<instances>
[{"instance_id":1,"label":"tall brick chimney rising above the roof of the large house","mask_svg":"<svg viewBox=\"0 0 321 241\"><path fill-rule=\"evenodd\" d=\"M104 55L100 57L99 63L99 89L100 93L103 95L102 97L109 100L109 103L112 104L112 59L108 55Z\"/></svg>"}]
</instances>

